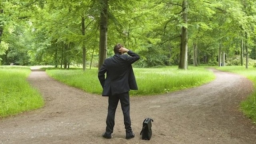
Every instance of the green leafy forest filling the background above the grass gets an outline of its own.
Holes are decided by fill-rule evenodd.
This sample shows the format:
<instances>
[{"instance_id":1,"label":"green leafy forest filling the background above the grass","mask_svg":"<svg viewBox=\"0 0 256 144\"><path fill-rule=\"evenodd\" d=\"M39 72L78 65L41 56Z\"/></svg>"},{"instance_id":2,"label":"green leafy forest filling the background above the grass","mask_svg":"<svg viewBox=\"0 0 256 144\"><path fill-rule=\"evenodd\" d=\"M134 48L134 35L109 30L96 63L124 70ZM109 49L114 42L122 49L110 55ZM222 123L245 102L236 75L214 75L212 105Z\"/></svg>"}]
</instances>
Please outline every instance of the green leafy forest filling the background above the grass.
<instances>
[{"instance_id":1,"label":"green leafy forest filling the background above the grass","mask_svg":"<svg viewBox=\"0 0 256 144\"><path fill-rule=\"evenodd\" d=\"M1 0L0 65L99 67L117 43L137 67L255 65L254 0Z\"/></svg>"}]
</instances>

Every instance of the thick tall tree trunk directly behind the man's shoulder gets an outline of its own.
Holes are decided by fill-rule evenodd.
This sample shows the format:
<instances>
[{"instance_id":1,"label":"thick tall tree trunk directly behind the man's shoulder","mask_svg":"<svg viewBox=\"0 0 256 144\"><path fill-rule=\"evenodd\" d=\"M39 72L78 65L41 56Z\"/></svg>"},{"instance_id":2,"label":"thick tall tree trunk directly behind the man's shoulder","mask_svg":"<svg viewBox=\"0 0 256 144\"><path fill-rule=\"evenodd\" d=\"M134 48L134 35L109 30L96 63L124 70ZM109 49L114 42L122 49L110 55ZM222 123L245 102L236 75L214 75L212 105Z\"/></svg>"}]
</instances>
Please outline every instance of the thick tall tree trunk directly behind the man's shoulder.
<instances>
[{"instance_id":1,"label":"thick tall tree trunk directly behind the man's shoulder","mask_svg":"<svg viewBox=\"0 0 256 144\"><path fill-rule=\"evenodd\" d=\"M100 49L98 69L102 66L107 57L108 40L108 0L100 0L102 10L100 12Z\"/></svg>"}]
</instances>

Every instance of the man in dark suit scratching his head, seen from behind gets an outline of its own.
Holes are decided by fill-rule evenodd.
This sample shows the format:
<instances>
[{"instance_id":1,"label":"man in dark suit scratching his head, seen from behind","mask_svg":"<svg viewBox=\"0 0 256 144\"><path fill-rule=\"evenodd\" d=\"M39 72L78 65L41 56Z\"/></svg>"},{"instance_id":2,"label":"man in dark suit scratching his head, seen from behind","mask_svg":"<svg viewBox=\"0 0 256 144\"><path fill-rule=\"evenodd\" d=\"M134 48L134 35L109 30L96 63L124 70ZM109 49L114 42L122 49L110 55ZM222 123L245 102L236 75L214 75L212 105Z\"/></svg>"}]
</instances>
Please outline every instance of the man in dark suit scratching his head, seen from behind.
<instances>
[{"instance_id":1,"label":"man in dark suit scratching his head, seen from behind","mask_svg":"<svg viewBox=\"0 0 256 144\"><path fill-rule=\"evenodd\" d=\"M107 139L111 138L115 125L116 107L120 100L124 114L126 139L131 139L134 138L134 133L132 132L130 120L129 91L138 90L131 64L139 60L140 56L124 48L121 44L114 46L114 52L115 55L107 58L98 72L98 78L103 88L102 96L108 96L107 126L106 132L102 136ZM126 52L129 56L124 54Z\"/></svg>"}]
</instances>

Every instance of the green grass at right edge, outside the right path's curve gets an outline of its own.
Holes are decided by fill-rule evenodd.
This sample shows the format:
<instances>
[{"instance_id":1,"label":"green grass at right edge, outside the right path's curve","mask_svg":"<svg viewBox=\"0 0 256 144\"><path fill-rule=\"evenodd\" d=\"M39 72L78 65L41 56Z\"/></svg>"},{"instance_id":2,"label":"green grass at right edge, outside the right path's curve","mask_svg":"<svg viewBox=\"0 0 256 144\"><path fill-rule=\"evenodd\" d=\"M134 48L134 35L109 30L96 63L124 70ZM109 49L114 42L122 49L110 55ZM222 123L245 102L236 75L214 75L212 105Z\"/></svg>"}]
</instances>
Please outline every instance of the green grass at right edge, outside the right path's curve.
<instances>
[{"instance_id":1,"label":"green grass at right edge, outside the right path's curve","mask_svg":"<svg viewBox=\"0 0 256 144\"><path fill-rule=\"evenodd\" d=\"M246 69L245 66L224 66L217 69L241 74L253 82L254 91L246 100L241 102L240 109L248 118L256 123L256 68L249 67Z\"/></svg>"}]
</instances>

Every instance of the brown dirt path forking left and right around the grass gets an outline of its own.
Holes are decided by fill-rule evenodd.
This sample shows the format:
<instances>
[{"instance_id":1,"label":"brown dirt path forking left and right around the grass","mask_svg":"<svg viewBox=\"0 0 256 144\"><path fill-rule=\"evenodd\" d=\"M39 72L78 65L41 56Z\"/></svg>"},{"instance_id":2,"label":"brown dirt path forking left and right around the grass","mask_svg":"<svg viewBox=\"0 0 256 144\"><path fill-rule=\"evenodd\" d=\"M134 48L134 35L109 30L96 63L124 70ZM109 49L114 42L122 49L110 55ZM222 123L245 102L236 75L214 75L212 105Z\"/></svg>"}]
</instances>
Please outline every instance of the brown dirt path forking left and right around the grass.
<instances>
[{"instance_id":1,"label":"brown dirt path forking left and right around the grass","mask_svg":"<svg viewBox=\"0 0 256 144\"><path fill-rule=\"evenodd\" d=\"M125 139L118 105L113 138L102 138L108 99L66 86L33 71L28 78L45 99L45 106L0 119L0 144L255 144L256 128L238 110L253 90L246 78L213 70L216 80L198 88L158 96L131 97L135 138ZM153 135L140 140L144 118Z\"/></svg>"}]
</instances>

